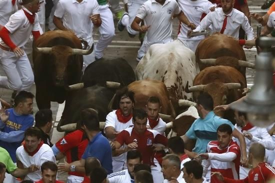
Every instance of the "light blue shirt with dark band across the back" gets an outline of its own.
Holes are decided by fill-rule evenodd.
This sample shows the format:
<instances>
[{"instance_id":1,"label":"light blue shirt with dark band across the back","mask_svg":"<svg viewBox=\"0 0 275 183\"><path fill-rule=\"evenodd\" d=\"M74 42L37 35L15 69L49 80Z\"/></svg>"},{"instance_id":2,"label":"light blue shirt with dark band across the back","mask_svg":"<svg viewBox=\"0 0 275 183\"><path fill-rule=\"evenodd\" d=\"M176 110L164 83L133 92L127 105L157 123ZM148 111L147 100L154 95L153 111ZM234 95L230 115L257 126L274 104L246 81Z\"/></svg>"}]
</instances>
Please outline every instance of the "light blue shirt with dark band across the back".
<instances>
[{"instance_id":1,"label":"light blue shirt with dark band across the back","mask_svg":"<svg viewBox=\"0 0 275 183\"><path fill-rule=\"evenodd\" d=\"M185 135L190 139L196 139L193 151L196 153L206 152L206 147L209 141L217 139L216 130L221 124L229 124L234 130L234 125L227 119L223 119L213 111L207 113L204 119L196 119Z\"/></svg>"}]
</instances>

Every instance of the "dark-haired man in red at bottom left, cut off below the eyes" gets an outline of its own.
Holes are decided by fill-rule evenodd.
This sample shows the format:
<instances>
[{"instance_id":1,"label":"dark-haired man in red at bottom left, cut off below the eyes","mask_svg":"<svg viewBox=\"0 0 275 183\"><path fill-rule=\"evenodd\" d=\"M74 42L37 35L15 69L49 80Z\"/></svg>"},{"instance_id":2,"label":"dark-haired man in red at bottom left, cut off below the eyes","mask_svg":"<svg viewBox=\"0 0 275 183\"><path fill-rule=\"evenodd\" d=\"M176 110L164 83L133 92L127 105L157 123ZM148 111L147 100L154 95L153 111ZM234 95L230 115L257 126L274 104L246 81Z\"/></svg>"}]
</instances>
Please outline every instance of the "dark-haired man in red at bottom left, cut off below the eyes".
<instances>
[{"instance_id":1,"label":"dark-haired man in red at bottom left, cut off below the eyes","mask_svg":"<svg viewBox=\"0 0 275 183\"><path fill-rule=\"evenodd\" d=\"M42 178L35 183L64 183L56 180L57 165L52 161L46 161L41 165Z\"/></svg>"}]
</instances>

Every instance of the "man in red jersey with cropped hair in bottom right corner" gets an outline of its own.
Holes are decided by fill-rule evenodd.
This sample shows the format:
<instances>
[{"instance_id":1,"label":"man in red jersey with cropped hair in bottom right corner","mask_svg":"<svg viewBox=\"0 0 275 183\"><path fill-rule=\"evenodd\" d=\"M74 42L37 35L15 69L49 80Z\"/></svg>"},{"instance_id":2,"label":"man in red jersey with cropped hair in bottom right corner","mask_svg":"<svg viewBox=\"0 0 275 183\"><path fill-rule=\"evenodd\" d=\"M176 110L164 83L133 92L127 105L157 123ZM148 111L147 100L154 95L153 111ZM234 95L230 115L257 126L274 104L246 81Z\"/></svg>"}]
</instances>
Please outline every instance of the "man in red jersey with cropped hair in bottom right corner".
<instances>
[{"instance_id":1,"label":"man in red jersey with cropped hair in bottom right corner","mask_svg":"<svg viewBox=\"0 0 275 183\"><path fill-rule=\"evenodd\" d=\"M249 148L248 163L252 169L248 176L241 180L234 180L223 177L220 172L213 172L211 176L216 176L225 183L265 183L275 177L275 168L264 162L265 148L260 143L253 143Z\"/></svg>"}]
</instances>

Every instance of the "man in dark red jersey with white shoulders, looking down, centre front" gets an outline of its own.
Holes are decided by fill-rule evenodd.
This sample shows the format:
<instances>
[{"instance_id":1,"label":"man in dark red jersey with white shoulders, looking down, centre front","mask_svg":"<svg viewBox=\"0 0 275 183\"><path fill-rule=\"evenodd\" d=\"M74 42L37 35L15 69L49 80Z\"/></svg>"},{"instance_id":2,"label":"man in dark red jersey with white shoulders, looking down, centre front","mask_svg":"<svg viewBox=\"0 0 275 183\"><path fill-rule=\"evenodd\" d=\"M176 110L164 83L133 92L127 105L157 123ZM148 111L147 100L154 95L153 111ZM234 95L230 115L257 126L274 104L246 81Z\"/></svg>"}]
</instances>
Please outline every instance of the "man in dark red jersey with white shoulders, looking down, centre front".
<instances>
[{"instance_id":1,"label":"man in dark red jersey with white shoulders, looking down, centre front","mask_svg":"<svg viewBox=\"0 0 275 183\"><path fill-rule=\"evenodd\" d=\"M143 109L134 109L133 111L133 127L122 130L114 141L115 148L120 148L126 144L128 150L137 149L142 154L144 164L151 165L154 182L162 182L164 180L161 173L161 167L154 158L153 143L161 143L167 145L167 138L159 132L146 129L147 113Z\"/></svg>"}]
</instances>

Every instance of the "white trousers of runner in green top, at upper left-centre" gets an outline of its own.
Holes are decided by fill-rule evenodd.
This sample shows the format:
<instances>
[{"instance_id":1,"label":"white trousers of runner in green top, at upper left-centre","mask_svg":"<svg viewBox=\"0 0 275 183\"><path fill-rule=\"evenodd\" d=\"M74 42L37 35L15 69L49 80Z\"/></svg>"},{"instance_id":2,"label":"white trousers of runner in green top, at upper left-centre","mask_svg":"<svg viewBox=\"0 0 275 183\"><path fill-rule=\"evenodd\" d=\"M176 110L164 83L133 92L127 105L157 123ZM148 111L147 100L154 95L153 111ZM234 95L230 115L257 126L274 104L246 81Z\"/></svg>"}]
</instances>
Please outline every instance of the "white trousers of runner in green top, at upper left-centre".
<instances>
[{"instance_id":1,"label":"white trousers of runner in green top, at upper left-centre","mask_svg":"<svg viewBox=\"0 0 275 183\"><path fill-rule=\"evenodd\" d=\"M101 58L104 49L111 43L114 36L114 23L109 5L99 5L99 13L101 18L101 25L98 27L100 37L95 44L95 57Z\"/></svg>"}]
</instances>

